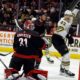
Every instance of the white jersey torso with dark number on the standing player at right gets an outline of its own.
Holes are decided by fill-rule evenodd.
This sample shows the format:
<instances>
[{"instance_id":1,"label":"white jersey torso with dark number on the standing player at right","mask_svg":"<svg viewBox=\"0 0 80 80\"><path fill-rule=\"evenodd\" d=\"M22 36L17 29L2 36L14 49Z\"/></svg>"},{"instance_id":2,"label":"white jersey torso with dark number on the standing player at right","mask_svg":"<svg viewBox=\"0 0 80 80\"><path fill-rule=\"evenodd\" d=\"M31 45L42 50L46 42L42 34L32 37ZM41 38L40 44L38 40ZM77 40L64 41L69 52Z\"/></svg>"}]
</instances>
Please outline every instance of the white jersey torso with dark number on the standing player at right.
<instances>
[{"instance_id":1,"label":"white jersey torso with dark number on the standing player at right","mask_svg":"<svg viewBox=\"0 0 80 80\"><path fill-rule=\"evenodd\" d=\"M64 19L64 17L61 18L60 21L58 22L58 27L55 33L65 38L66 35L68 34L68 31L71 27L72 22L73 22L73 19L71 19L70 22L67 22Z\"/></svg>"}]
</instances>

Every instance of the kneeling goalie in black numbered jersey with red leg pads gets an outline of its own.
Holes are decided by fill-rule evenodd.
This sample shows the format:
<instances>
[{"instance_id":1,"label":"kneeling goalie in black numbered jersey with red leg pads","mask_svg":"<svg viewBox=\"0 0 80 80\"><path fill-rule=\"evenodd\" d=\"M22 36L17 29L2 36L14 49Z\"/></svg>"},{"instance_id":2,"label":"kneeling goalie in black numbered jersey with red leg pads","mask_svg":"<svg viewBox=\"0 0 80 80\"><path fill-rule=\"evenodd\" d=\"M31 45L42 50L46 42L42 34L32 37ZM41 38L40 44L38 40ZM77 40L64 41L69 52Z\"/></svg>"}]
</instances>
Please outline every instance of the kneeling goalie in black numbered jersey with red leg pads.
<instances>
[{"instance_id":1,"label":"kneeling goalie in black numbered jersey with red leg pads","mask_svg":"<svg viewBox=\"0 0 80 80\"><path fill-rule=\"evenodd\" d=\"M29 23L28 23L29 24ZM27 25L28 29L18 31L14 36L13 49L14 54L12 55L9 69L5 70L6 78L11 79L11 74L18 76L18 73L23 66L23 72L25 76L30 76L37 80L42 80L37 77L37 74L43 74L47 77L47 71L35 70L35 62L39 62L41 58L39 50L45 48L44 40L38 35L37 32L29 30L31 25Z\"/></svg>"}]
</instances>

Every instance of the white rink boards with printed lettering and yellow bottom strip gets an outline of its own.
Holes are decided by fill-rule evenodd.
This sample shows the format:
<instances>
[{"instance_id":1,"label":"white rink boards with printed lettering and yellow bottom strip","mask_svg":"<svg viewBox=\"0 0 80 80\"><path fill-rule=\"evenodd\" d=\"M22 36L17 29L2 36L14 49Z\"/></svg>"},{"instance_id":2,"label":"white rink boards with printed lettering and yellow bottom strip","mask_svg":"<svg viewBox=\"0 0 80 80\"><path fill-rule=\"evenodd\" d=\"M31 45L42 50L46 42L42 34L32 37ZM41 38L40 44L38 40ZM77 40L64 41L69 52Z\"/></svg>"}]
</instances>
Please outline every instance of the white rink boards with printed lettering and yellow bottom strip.
<instances>
[{"instance_id":1,"label":"white rink boards with printed lettering and yellow bottom strip","mask_svg":"<svg viewBox=\"0 0 80 80\"><path fill-rule=\"evenodd\" d=\"M0 31L0 52L13 52L12 44L14 35L15 32ZM80 37L74 37L72 45L69 45L67 41L66 44L70 49L71 58L80 59ZM61 56L53 46L49 48L49 51L51 56ZM45 55L44 51L43 53Z\"/></svg>"}]
</instances>

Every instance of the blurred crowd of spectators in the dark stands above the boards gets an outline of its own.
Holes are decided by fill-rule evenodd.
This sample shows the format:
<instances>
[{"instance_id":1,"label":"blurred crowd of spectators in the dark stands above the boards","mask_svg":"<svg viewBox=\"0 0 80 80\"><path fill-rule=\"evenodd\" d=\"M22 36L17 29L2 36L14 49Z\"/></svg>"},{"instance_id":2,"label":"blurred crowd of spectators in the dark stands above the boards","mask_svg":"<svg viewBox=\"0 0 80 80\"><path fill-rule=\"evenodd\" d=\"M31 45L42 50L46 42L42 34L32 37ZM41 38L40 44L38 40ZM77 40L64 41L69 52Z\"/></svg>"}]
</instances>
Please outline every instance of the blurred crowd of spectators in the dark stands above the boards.
<instances>
[{"instance_id":1,"label":"blurred crowd of spectators in the dark stands above the boards","mask_svg":"<svg viewBox=\"0 0 80 80\"><path fill-rule=\"evenodd\" d=\"M60 0L0 0L0 30L16 31L14 19L22 27L26 20L38 19L41 14L46 15L48 27L56 27L60 16L72 2L61 1L63 3Z\"/></svg>"}]
</instances>

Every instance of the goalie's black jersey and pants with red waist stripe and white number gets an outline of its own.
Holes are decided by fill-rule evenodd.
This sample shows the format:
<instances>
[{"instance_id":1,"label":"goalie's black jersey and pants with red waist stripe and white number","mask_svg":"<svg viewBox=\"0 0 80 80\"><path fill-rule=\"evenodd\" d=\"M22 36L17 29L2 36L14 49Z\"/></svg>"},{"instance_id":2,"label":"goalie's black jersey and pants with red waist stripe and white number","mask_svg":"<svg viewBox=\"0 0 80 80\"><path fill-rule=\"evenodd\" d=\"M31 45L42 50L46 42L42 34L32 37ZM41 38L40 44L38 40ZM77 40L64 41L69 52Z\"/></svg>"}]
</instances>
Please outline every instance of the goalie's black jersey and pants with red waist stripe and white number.
<instances>
[{"instance_id":1,"label":"goalie's black jersey and pants with red waist stripe and white number","mask_svg":"<svg viewBox=\"0 0 80 80\"><path fill-rule=\"evenodd\" d=\"M45 47L44 40L38 36L34 31L21 30L15 34L13 49L15 50L10 65L19 71L23 65L24 73L34 69L35 60L40 60L39 52Z\"/></svg>"}]
</instances>

